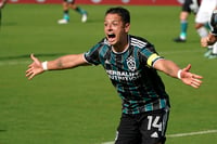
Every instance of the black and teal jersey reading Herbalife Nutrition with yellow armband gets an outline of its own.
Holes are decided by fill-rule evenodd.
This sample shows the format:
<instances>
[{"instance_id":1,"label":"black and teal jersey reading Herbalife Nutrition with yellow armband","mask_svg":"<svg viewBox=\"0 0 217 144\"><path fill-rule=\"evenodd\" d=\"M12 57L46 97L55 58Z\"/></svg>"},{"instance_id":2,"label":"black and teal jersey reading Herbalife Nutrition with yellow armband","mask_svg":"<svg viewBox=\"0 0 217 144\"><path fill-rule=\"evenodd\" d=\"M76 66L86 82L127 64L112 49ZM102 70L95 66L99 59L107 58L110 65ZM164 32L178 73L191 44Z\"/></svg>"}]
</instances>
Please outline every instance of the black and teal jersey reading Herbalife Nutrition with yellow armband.
<instances>
[{"instance_id":1,"label":"black and teal jersey reading Herbalife Nutrition with yellow armband","mask_svg":"<svg viewBox=\"0 0 217 144\"><path fill-rule=\"evenodd\" d=\"M153 68L157 55L154 45L143 38L128 37L129 47L114 52L106 38L85 53L93 65L101 64L123 101L124 114L139 114L169 106L165 87Z\"/></svg>"}]
</instances>

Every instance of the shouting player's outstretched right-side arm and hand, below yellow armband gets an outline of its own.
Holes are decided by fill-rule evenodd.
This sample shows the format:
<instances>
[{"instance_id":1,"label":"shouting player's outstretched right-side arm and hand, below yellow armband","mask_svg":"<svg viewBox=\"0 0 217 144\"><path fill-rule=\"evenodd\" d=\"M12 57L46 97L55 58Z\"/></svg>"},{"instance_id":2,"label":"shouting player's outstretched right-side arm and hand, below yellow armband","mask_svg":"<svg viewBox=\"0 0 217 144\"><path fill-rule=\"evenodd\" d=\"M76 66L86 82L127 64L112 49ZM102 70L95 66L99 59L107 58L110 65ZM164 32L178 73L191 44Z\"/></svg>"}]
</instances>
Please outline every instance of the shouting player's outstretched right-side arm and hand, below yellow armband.
<instances>
[{"instance_id":1,"label":"shouting player's outstretched right-side arm and hand, below yellow armband","mask_svg":"<svg viewBox=\"0 0 217 144\"><path fill-rule=\"evenodd\" d=\"M189 70L191 65L189 64L186 68L180 69L174 62L168 60L158 60L154 64L154 68L165 73L166 75L179 78L184 84L191 86L193 88L199 88L202 83L202 76L192 74Z\"/></svg>"}]
</instances>

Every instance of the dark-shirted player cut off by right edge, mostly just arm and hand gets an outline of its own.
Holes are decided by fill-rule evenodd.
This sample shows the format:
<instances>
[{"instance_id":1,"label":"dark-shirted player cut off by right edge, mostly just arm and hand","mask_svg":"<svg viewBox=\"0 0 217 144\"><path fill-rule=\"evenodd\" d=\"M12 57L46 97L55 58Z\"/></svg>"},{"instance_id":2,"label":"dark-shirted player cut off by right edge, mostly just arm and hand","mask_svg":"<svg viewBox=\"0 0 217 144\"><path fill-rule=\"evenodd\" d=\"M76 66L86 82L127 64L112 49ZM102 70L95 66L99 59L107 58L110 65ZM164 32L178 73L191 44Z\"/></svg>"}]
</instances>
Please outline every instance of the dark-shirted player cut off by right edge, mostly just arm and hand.
<instances>
[{"instance_id":1,"label":"dark-shirted player cut off by right edge, mostly just arm and hand","mask_svg":"<svg viewBox=\"0 0 217 144\"><path fill-rule=\"evenodd\" d=\"M213 45L217 41L217 10L214 10L212 14L210 29L209 35L201 39L202 47ZM217 51L213 51L213 57L217 57Z\"/></svg>"}]
</instances>

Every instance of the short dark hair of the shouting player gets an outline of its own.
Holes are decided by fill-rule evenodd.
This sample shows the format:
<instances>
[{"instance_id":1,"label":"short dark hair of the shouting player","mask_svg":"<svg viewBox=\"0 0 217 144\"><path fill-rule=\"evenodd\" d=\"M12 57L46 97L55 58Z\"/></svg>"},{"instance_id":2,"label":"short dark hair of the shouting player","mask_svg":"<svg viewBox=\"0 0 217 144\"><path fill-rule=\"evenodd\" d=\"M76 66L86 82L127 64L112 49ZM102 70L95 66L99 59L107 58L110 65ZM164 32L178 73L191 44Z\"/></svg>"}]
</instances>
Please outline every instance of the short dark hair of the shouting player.
<instances>
[{"instance_id":1,"label":"short dark hair of the shouting player","mask_svg":"<svg viewBox=\"0 0 217 144\"><path fill-rule=\"evenodd\" d=\"M106 12L105 15L107 14L118 14L122 17L122 21L126 23L130 23L130 13L127 9L124 9L122 6L116 6L116 8L110 8Z\"/></svg>"}]
</instances>

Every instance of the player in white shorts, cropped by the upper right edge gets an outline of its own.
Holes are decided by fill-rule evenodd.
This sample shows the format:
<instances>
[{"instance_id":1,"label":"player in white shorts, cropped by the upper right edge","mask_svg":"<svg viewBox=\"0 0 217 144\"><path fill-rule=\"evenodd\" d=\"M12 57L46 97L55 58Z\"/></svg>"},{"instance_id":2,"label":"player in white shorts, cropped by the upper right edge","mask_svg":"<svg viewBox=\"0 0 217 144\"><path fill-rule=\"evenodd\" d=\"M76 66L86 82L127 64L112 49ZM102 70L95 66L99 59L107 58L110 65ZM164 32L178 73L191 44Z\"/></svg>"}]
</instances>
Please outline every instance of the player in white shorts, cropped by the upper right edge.
<instances>
[{"instance_id":1,"label":"player in white shorts, cropped by the upper right edge","mask_svg":"<svg viewBox=\"0 0 217 144\"><path fill-rule=\"evenodd\" d=\"M217 9L217 0L202 0L195 17L195 29L201 38L208 36L210 28L207 28L213 11ZM214 58L213 51L217 51L217 44L208 45L204 56Z\"/></svg>"}]
</instances>

